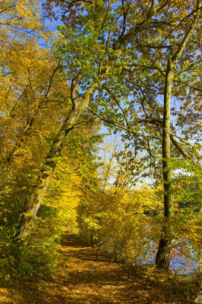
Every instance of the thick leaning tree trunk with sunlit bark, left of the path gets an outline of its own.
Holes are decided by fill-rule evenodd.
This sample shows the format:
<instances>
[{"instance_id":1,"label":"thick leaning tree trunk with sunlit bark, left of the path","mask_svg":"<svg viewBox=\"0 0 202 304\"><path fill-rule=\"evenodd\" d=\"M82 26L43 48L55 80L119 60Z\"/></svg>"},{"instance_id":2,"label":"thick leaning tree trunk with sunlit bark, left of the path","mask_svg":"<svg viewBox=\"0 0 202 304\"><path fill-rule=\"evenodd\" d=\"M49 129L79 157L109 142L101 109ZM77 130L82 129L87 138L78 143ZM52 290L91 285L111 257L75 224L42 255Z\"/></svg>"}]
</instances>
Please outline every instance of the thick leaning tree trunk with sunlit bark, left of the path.
<instances>
[{"instance_id":1,"label":"thick leaning tree trunk with sunlit bark, left of the path","mask_svg":"<svg viewBox=\"0 0 202 304\"><path fill-rule=\"evenodd\" d=\"M65 122L52 143L44 165L38 175L35 185L32 188L30 197L25 205L14 241L23 241L29 234L38 208L40 207L43 195L48 187L49 178L57 165L57 159L61 153L63 142L69 131L72 130L75 122L80 117L83 110L87 107L97 84L93 84L84 94L79 102L73 104Z\"/></svg>"}]
</instances>

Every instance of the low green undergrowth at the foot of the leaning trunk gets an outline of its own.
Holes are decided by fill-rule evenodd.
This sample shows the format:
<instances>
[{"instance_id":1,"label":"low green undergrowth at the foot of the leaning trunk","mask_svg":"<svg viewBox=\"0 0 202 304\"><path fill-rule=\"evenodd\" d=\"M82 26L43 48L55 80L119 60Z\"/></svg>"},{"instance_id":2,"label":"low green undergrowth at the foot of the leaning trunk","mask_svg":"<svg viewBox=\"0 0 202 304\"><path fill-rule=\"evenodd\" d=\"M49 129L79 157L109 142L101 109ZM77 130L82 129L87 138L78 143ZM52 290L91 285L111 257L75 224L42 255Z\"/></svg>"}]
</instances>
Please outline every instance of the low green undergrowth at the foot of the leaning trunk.
<instances>
[{"instance_id":1,"label":"low green undergrowth at the foot of the leaning trunk","mask_svg":"<svg viewBox=\"0 0 202 304\"><path fill-rule=\"evenodd\" d=\"M34 244L13 244L1 255L1 278L6 281L48 279L56 271L57 244L51 238L34 238Z\"/></svg>"}]
</instances>

